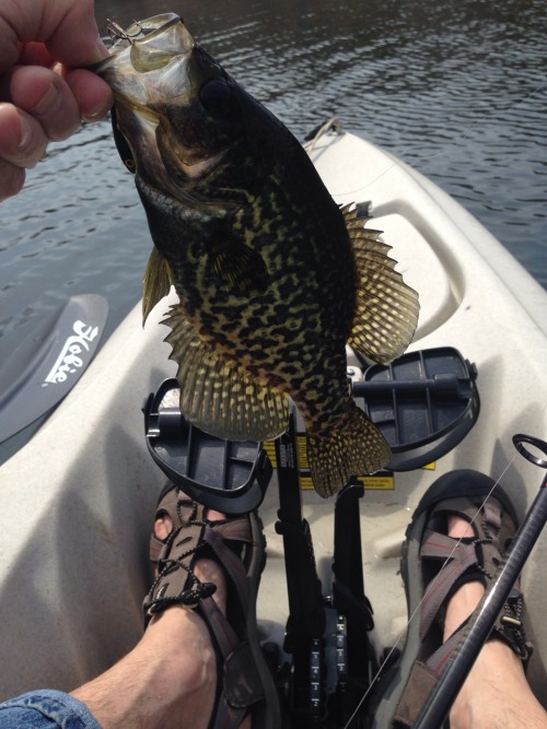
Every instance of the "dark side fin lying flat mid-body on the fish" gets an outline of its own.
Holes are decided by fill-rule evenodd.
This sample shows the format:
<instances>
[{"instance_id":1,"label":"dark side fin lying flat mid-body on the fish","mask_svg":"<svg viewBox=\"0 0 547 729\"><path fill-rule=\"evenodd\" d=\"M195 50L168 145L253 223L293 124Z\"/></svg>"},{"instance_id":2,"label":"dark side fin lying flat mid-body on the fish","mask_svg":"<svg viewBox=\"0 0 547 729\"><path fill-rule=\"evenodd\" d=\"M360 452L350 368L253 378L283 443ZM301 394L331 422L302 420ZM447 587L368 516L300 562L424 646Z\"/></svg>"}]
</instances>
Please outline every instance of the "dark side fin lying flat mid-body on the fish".
<instances>
[{"instance_id":1,"label":"dark side fin lying flat mid-body on the fish","mask_svg":"<svg viewBox=\"0 0 547 729\"><path fill-rule=\"evenodd\" d=\"M244 296L263 292L268 285L263 257L245 244L216 243L209 255L214 273L230 292Z\"/></svg>"}]
</instances>

